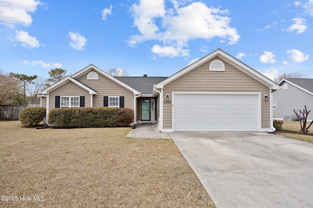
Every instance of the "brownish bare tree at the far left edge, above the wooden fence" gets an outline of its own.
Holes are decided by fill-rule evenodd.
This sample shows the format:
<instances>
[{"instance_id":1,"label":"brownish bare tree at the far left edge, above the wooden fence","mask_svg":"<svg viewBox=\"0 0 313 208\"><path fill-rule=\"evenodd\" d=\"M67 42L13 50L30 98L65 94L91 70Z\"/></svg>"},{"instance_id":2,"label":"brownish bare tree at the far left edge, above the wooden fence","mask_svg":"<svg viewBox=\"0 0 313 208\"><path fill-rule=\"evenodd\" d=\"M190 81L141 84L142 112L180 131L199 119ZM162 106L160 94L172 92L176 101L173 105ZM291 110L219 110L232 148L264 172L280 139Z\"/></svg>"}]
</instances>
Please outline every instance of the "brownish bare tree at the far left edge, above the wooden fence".
<instances>
[{"instance_id":1,"label":"brownish bare tree at the far left edge, above the wooden fence","mask_svg":"<svg viewBox=\"0 0 313 208\"><path fill-rule=\"evenodd\" d=\"M18 92L18 81L0 70L0 105L10 104Z\"/></svg>"}]
</instances>

